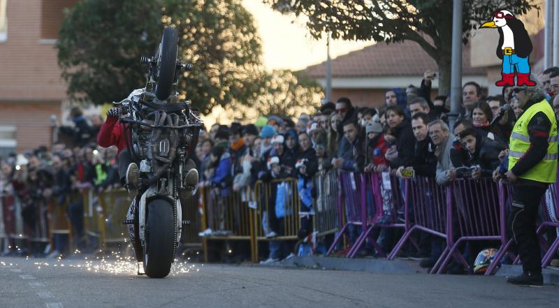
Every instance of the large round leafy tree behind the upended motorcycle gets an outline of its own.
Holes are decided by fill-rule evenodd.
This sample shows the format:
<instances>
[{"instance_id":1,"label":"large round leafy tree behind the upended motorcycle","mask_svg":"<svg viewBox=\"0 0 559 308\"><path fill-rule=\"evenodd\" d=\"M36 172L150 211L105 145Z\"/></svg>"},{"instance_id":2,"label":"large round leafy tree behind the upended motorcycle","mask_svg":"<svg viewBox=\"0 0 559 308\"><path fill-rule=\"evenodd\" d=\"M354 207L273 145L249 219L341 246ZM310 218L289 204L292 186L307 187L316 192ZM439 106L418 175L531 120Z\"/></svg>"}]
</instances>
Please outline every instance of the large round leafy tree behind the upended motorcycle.
<instances>
[{"instance_id":1,"label":"large round leafy tree behind the upended motorcycle","mask_svg":"<svg viewBox=\"0 0 559 308\"><path fill-rule=\"evenodd\" d=\"M240 0L82 0L66 12L57 47L71 98L119 101L145 85L140 56L157 50L164 27L179 31L179 57L194 64L180 90L201 112L259 91L254 20Z\"/></svg>"}]
</instances>

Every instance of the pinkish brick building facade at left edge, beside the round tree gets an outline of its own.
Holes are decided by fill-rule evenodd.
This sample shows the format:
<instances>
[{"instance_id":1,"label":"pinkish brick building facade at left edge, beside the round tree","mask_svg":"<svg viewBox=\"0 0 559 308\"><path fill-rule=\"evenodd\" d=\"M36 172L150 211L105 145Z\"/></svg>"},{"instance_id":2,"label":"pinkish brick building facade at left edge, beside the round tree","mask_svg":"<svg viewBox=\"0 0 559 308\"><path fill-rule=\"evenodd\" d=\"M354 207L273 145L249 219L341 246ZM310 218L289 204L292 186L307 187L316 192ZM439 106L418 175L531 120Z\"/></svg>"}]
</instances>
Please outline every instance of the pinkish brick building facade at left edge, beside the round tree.
<instances>
[{"instance_id":1,"label":"pinkish brick building facade at left edge, beside the round tree","mask_svg":"<svg viewBox=\"0 0 559 308\"><path fill-rule=\"evenodd\" d=\"M78 0L0 0L0 155L50 146L67 101L57 49Z\"/></svg>"}]
</instances>

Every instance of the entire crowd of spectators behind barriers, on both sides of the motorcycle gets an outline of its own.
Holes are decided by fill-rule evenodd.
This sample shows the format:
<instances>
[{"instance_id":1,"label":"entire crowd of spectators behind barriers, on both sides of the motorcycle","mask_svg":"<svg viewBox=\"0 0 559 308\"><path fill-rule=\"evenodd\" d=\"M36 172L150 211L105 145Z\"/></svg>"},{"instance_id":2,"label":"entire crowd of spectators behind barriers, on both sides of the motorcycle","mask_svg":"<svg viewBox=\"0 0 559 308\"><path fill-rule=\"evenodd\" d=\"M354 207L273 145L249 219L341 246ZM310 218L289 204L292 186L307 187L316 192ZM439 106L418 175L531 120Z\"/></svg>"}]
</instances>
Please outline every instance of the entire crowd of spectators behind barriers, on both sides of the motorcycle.
<instances>
[{"instance_id":1,"label":"entire crowd of spectators behind barriers, on both sides of the motorcycle","mask_svg":"<svg viewBox=\"0 0 559 308\"><path fill-rule=\"evenodd\" d=\"M217 202L232 193L240 194L249 202L249 187L261 180L273 182L269 203L282 202L278 191L285 189L273 179L298 179L302 218L298 236L301 240L312 235L312 198L316 188L312 178L328 170L356 173L390 173L395 177L409 177L409 173L433 177L445 185L460 177L498 177L506 172L507 142L514 122L522 110L518 100L532 89L502 87L502 93L485 96L476 82L463 86L462 105L458 120L449 128L450 99L431 95L435 74L426 71L419 87L393 88L386 91L385 101L377 108L356 107L349 98L328 102L312 115L301 114L296 119L268 115L252 124L233 122L231 125L213 124L201 131L196 147L199 186L208 188ZM545 89L545 98L559 114L559 68L546 69L538 76ZM522 94L524 92L525 94ZM103 123L101 117L85 119L78 108L71 117L75 125L61 128L73 137L74 148L57 143L52 150L36 149L10 156L1 161L3 227L5 233L14 232L14 221L7 213L14 211L14 198L22 200L22 216L27 245L17 247L8 237L4 254L41 254L44 247L33 247L31 239L41 237L44 206L49 200L57 205L68 203L68 217L75 228L79 243L83 237L80 214L81 201L71 203L72 193L89 187L100 191L119 186L117 149L103 149L96 144L96 135ZM391 193L382 188L386 221L390 217ZM278 207L276 207L278 209ZM401 213L399 211L399 213ZM224 211L217 214L217 230L203 230L200 235L223 235ZM282 235L282 218L286 213L270 210L264 213L266 237ZM282 216L283 215L283 216ZM383 230L379 244L386 251L395 238ZM436 240L421 240L429 249L420 251L425 257L421 265L432 267L440 251ZM53 256L65 249L64 239L55 238ZM7 246L7 248L6 248ZM371 248L371 247L368 247ZM423 249L422 249L423 250ZM286 258L289 249L280 241L270 241L270 254L265 262ZM364 252L375 254L374 249ZM412 253L409 253L412 254Z\"/></svg>"}]
</instances>

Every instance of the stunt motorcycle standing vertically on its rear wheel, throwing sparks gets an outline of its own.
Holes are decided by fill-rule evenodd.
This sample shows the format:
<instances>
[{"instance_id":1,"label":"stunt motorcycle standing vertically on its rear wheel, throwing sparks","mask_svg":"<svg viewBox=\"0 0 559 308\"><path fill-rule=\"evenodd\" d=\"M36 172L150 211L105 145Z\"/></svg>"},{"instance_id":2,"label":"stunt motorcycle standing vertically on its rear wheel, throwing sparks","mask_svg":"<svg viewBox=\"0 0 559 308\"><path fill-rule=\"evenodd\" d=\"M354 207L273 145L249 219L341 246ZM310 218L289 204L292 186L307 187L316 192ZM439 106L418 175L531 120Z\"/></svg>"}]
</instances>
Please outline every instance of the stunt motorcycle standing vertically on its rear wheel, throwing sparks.
<instances>
[{"instance_id":1,"label":"stunt motorcycle standing vertically on its rear wheel, throwing sparks","mask_svg":"<svg viewBox=\"0 0 559 308\"><path fill-rule=\"evenodd\" d=\"M126 116L120 121L128 124L123 133L140 172L133 219L123 223L133 224L136 260L151 278L169 274L182 226L189 224L180 196L184 200L194 189L186 177L202 126L197 110L178 98L178 78L192 66L177 59L177 41L177 31L167 27L155 56L140 60L149 66L145 88L121 102Z\"/></svg>"}]
</instances>

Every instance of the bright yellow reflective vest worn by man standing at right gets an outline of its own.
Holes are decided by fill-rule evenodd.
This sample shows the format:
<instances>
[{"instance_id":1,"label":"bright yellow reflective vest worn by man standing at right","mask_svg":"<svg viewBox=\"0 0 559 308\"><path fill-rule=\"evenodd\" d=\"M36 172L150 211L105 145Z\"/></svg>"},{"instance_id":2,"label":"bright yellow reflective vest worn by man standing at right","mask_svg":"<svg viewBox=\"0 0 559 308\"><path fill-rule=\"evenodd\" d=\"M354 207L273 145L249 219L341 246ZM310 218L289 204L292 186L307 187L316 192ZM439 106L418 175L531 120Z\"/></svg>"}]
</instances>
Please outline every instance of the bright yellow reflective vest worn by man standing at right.
<instances>
[{"instance_id":1,"label":"bright yellow reflective vest worn by man standing at right","mask_svg":"<svg viewBox=\"0 0 559 308\"><path fill-rule=\"evenodd\" d=\"M544 112L551 122L551 131L549 131L548 147L546 156L539 161L536 166L518 175L522 179L531 179L532 181L554 183L557 179L557 157L558 157L558 131L557 119L551 105L546 101L540 101L531 105L525 110L511 132L510 150L509 150L509 170L512 170L519 159L530 148L530 134L528 133L528 124L537 112Z\"/></svg>"}]
</instances>

